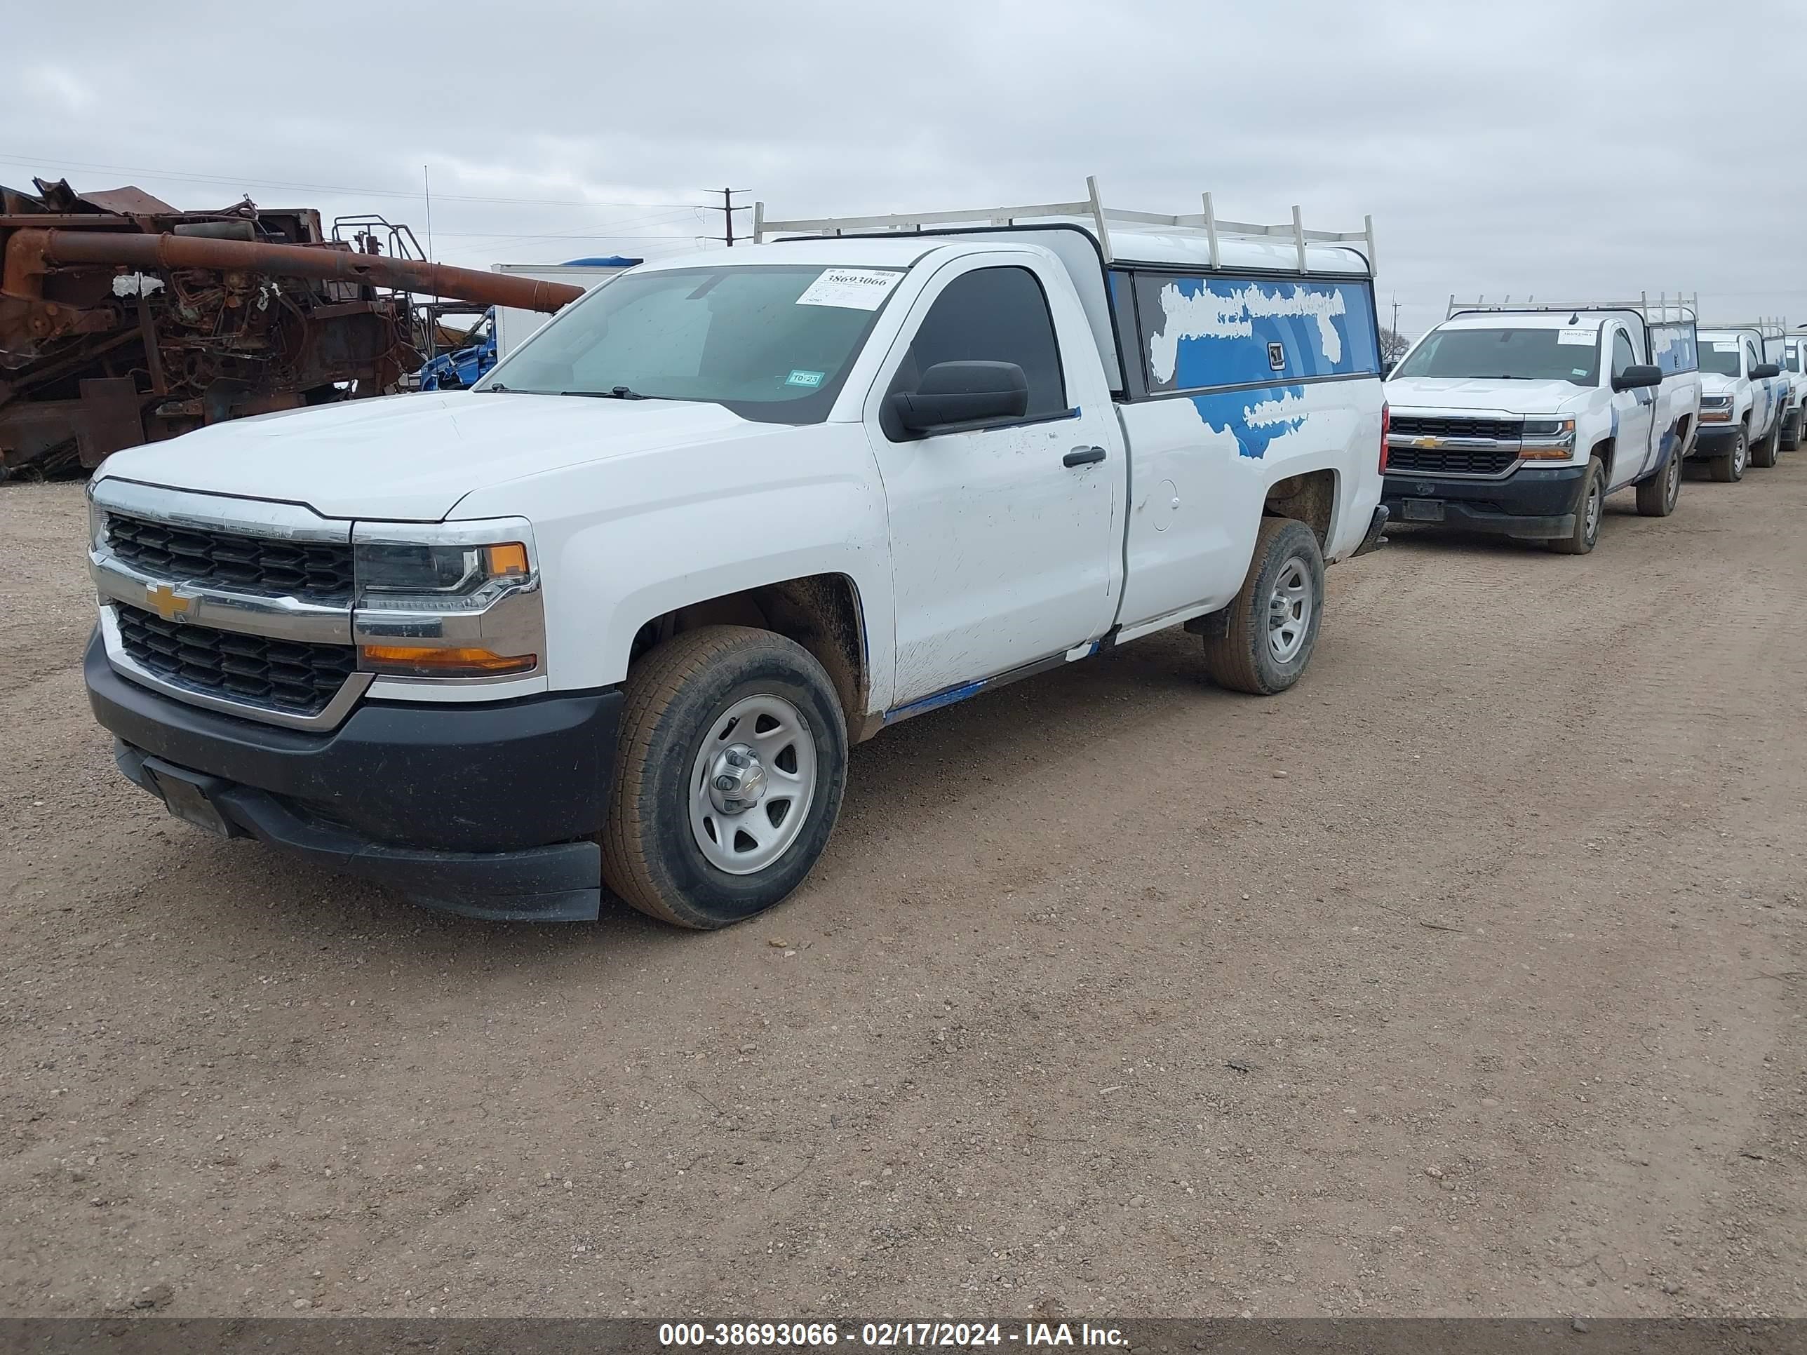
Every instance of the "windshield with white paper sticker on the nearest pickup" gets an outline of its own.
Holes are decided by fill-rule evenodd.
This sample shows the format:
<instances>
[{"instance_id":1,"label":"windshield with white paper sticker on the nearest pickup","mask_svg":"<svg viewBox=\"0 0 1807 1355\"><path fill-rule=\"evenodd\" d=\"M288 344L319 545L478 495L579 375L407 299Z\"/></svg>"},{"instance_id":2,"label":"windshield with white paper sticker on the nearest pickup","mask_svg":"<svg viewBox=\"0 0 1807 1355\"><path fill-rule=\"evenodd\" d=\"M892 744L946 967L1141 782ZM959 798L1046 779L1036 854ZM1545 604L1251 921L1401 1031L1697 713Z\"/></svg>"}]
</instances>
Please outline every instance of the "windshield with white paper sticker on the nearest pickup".
<instances>
[{"instance_id":1,"label":"windshield with white paper sticker on the nearest pickup","mask_svg":"<svg viewBox=\"0 0 1807 1355\"><path fill-rule=\"evenodd\" d=\"M692 399L820 423L900 269L627 273L562 311L477 390Z\"/></svg>"}]
</instances>

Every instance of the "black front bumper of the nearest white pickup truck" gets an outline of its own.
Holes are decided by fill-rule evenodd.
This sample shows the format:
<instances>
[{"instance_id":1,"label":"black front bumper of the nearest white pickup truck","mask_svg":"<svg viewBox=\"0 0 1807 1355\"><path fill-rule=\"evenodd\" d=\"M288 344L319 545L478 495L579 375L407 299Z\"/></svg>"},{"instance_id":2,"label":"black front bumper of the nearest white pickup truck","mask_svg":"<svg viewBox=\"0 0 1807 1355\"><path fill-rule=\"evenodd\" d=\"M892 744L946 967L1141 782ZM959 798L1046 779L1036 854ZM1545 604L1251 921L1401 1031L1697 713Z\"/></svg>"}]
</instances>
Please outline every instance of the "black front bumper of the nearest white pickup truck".
<instances>
[{"instance_id":1,"label":"black front bumper of the nearest white pickup truck","mask_svg":"<svg viewBox=\"0 0 1807 1355\"><path fill-rule=\"evenodd\" d=\"M473 918L591 920L622 692L369 701L332 734L219 715L83 661L114 759L172 811Z\"/></svg>"}]
</instances>

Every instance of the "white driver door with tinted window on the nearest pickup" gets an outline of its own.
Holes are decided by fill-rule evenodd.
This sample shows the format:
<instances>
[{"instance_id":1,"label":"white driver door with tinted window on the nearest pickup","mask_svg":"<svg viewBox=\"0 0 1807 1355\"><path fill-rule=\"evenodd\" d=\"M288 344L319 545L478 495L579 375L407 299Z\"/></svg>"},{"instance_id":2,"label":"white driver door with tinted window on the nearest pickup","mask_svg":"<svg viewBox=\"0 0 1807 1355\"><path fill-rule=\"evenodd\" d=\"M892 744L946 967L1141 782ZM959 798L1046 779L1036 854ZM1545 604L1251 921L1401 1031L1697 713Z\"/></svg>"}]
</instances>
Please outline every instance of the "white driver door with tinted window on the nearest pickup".
<instances>
[{"instance_id":1,"label":"white driver door with tinted window on the nearest pickup","mask_svg":"<svg viewBox=\"0 0 1807 1355\"><path fill-rule=\"evenodd\" d=\"M891 515L893 712L1057 658L1115 618L1128 463L1079 298L1050 271L1035 255L950 262L867 401ZM904 434L887 396L943 361L1016 363L1026 414Z\"/></svg>"}]
</instances>

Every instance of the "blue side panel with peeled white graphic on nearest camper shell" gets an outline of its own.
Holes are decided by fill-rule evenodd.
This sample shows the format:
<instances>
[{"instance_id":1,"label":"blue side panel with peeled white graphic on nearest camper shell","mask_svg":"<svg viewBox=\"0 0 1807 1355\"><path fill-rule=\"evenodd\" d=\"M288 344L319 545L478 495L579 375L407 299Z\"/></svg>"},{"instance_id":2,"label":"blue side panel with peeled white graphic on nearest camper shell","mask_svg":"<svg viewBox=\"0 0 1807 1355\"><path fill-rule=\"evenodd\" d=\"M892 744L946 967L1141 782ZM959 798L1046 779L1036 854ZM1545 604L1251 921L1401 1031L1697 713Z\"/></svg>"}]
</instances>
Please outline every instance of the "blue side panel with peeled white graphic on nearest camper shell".
<instances>
[{"instance_id":1,"label":"blue side panel with peeled white graphic on nearest camper shell","mask_svg":"<svg viewBox=\"0 0 1807 1355\"><path fill-rule=\"evenodd\" d=\"M1137 275L1151 392L1379 376L1366 282Z\"/></svg>"}]
</instances>

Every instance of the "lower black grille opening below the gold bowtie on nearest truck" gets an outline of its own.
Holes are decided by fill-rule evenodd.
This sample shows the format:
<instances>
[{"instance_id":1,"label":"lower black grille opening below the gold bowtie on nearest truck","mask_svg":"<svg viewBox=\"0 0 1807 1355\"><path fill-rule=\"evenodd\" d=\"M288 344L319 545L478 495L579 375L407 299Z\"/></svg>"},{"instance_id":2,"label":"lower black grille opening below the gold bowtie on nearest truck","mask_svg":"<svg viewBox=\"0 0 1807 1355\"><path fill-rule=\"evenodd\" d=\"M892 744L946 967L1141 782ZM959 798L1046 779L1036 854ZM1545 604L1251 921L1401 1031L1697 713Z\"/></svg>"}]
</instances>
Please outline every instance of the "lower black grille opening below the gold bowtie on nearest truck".
<instances>
[{"instance_id":1,"label":"lower black grille opening below the gold bowtie on nearest truck","mask_svg":"<svg viewBox=\"0 0 1807 1355\"><path fill-rule=\"evenodd\" d=\"M164 621L119 605L119 643L159 678L289 715L318 715L358 667L351 645L304 645Z\"/></svg>"}]
</instances>

